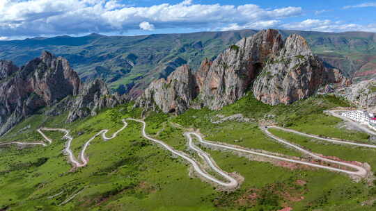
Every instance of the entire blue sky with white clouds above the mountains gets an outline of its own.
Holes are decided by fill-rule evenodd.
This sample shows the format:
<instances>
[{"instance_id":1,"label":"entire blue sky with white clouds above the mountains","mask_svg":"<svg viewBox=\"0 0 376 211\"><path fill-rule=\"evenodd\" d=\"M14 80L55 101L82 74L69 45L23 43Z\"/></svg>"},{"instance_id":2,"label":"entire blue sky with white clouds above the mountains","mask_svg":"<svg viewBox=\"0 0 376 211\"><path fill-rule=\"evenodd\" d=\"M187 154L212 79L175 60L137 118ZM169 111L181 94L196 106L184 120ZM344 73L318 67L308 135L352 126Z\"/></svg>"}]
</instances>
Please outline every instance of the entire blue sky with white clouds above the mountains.
<instances>
[{"instance_id":1,"label":"entire blue sky with white clouds above the mountains","mask_svg":"<svg viewBox=\"0 0 376 211\"><path fill-rule=\"evenodd\" d=\"M0 0L0 40L280 28L376 32L376 1Z\"/></svg>"}]
</instances>

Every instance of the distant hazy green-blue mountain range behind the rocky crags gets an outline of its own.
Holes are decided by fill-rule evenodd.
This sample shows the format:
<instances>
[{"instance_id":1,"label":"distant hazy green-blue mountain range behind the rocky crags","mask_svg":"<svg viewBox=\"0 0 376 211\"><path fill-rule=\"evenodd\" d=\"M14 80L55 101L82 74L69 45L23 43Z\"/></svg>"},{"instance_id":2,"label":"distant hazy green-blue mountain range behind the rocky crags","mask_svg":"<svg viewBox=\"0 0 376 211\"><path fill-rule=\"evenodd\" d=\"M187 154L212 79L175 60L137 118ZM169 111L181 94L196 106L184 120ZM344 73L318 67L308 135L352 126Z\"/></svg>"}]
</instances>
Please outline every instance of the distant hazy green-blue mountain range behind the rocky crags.
<instances>
[{"instance_id":1,"label":"distant hazy green-blue mountain range behind the rocky crags","mask_svg":"<svg viewBox=\"0 0 376 211\"><path fill-rule=\"evenodd\" d=\"M44 50L67 58L82 81L103 78L112 90L141 94L156 78L166 78L188 64L198 69L204 58L214 60L230 45L258 31L224 31L139 36L36 37L0 41L0 59L16 65L40 56ZM302 35L313 53L327 66L341 69L353 81L376 76L376 33L322 33L280 31L283 37Z\"/></svg>"}]
</instances>

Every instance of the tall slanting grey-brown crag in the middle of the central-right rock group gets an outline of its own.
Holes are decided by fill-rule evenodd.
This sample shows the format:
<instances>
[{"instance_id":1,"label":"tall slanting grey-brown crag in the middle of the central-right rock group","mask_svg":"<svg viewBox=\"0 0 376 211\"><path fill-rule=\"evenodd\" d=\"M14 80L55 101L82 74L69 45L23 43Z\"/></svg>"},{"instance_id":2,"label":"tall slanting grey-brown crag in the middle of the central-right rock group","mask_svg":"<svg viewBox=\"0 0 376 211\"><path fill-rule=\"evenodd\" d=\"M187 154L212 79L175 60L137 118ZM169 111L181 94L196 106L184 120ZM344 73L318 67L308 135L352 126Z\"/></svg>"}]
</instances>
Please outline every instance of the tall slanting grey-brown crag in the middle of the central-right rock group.
<instances>
[{"instance_id":1,"label":"tall slanting grey-brown crag in the middle of the central-right rock group","mask_svg":"<svg viewBox=\"0 0 376 211\"><path fill-rule=\"evenodd\" d=\"M198 78L201 78L198 83L201 85L200 101L204 106L217 110L240 99L269 56L276 54L282 44L278 31L260 31L221 53L210 68L201 65L197 71Z\"/></svg>"}]
</instances>

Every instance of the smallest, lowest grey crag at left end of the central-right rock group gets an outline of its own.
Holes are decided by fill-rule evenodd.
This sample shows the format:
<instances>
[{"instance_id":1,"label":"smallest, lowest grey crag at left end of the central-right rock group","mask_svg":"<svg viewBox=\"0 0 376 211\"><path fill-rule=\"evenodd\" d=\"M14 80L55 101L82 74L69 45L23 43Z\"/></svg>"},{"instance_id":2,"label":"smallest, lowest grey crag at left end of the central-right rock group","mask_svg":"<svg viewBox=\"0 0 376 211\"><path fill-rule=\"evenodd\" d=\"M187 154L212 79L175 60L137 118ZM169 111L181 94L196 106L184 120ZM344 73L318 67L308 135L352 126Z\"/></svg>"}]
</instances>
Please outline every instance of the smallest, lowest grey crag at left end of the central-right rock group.
<instances>
[{"instance_id":1,"label":"smallest, lowest grey crag at left end of the central-right rock group","mask_svg":"<svg viewBox=\"0 0 376 211\"><path fill-rule=\"evenodd\" d=\"M180 113L191 105L196 97L196 80L188 65L178 67L168 78L153 81L137 103L144 108L163 112ZM157 106L157 107L156 107Z\"/></svg>"}]
</instances>

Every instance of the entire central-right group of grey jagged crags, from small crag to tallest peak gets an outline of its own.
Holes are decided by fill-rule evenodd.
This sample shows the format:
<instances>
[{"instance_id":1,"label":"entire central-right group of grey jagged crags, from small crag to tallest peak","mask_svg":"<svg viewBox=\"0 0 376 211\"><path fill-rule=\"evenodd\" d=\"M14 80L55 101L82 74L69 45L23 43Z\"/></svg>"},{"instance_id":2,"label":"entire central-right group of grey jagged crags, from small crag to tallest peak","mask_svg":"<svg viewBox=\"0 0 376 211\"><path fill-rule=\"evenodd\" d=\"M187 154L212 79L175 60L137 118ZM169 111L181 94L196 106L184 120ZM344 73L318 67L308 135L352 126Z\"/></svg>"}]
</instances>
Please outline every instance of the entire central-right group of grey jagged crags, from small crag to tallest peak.
<instances>
[{"instance_id":1,"label":"entire central-right group of grey jagged crags, from small crag to tallest peak","mask_svg":"<svg viewBox=\"0 0 376 211\"><path fill-rule=\"evenodd\" d=\"M350 83L338 69L324 67L303 37L290 35L283 41L273 29L240 40L212 62L204 60L194 78L187 66L184 69L189 78L185 85L178 83L179 79L165 89L166 81L154 81L137 104L145 108L157 105L163 112L179 113L203 106L217 110L234 103L248 90L264 103L289 104L311 96L323 85ZM177 76L180 74L171 75L167 84ZM177 87L190 90L180 92ZM178 96L184 100L177 100Z\"/></svg>"}]
</instances>

